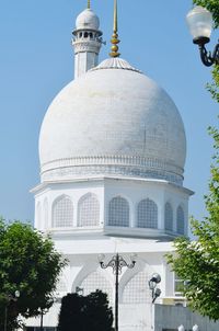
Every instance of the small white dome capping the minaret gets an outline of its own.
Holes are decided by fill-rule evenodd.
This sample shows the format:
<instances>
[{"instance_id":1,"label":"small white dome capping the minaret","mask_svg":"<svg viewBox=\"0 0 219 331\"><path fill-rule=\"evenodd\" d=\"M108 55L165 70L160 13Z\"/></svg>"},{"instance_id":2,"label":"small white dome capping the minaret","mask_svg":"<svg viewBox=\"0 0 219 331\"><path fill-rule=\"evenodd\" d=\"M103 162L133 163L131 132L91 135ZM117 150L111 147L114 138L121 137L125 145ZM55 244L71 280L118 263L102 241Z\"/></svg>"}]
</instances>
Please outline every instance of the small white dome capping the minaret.
<instances>
[{"instance_id":1,"label":"small white dome capping the minaret","mask_svg":"<svg viewBox=\"0 0 219 331\"><path fill-rule=\"evenodd\" d=\"M100 20L91 9L85 9L76 20L76 28L99 30Z\"/></svg>"}]
</instances>

